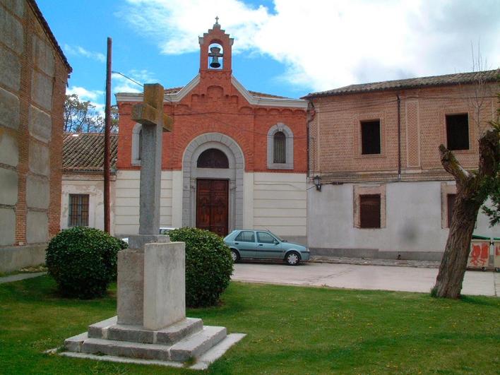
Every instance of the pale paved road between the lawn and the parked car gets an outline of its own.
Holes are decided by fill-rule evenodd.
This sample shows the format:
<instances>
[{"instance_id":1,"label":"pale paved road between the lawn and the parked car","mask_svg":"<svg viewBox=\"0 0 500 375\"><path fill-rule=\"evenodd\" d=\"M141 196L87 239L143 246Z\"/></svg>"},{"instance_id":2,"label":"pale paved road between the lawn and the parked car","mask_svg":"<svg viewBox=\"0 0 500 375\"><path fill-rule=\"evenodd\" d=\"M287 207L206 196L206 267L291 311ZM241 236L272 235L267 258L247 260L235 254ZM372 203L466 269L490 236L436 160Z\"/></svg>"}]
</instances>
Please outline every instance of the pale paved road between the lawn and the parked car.
<instances>
[{"instance_id":1,"label":"pale paved road between the lawn and the parked car","mask_svg":"<svg viewBox=\"0 0 500 375\"><path fill-rule=\"evenodd\" d=\"M349 289L429 292L436 281L435 268L355 266L351 264L237 263L233 280L287 285L317 285ZM500 296L500 273L467 271L463 294Z\"/></svg>"}]
</instances>

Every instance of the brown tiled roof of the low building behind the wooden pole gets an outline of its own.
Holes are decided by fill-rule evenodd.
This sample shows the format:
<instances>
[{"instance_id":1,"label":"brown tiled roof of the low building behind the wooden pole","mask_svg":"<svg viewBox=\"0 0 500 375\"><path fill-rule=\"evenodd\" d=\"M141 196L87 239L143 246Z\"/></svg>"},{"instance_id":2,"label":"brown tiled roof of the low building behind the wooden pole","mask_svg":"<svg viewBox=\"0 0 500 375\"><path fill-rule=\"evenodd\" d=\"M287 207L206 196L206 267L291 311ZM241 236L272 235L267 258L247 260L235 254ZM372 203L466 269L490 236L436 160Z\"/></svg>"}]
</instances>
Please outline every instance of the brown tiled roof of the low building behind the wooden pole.
<instances>
[{"instance_id":1,"label":"brown tiled roof of the low building behind the wooden pole","mask_svg":"<svg viewBox=\"0 0 500 375\"><path fill-rule=\"evenodd\" d=\"M111 168L117 167L118 134L109 137ZM63 141L65 172L100 172L104 170L103 133L65 133Z\"/></svg>"}]
</instances>

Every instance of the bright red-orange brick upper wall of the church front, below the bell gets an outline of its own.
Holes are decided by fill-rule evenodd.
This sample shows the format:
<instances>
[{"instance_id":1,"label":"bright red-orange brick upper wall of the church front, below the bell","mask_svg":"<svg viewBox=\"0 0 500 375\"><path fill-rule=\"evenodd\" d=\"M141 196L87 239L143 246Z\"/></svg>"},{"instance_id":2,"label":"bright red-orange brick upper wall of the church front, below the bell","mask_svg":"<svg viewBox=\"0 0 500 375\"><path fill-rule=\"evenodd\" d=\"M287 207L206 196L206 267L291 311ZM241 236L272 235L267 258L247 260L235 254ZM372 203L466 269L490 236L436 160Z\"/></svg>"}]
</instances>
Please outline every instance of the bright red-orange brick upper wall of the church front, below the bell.
<instances>
[{"instance_id":1,"label":"bright red-orange brick upper wall of the church front, below the bell","mask_svg":"<svg viewBox=\"0 0 500 375\"><path fill-rule=\"evenodd\" d=\"M119 169L138 169L131 164L133 102L119 102ZM223 133L242 148L246 172L280 172L267 168L268 130L283 123L294 136L294 169L306 172L306 111L286 107L250 105L231 83L230 72L201 72L200 83L180 102L165 103L164 110L174 119L174 131L163 133L162 169L181 169L187 145L203 133Z\"/></svg>"}]
</instances>

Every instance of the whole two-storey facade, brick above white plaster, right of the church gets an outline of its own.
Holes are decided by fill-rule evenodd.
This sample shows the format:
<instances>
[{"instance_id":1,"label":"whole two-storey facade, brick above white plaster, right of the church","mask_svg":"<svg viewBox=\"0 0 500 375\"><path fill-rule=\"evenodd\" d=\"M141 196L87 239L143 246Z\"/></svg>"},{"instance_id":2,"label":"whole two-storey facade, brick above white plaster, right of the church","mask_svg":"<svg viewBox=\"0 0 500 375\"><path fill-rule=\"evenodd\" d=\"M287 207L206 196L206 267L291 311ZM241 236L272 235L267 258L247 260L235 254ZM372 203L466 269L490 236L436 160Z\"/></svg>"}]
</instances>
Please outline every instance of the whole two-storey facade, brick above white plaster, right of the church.
<instances>
[{"instance_id":1,"label":"whole two-storey facade, brick above white plaster, right of the church","mask_svg":"<svg viewBox=\"0 0 500 375\"><path fill-rule=\"evenodd\" d=\"M451 132L468 141L468 149L453 153L463 167L477 169L477 140L498 107L499 73L410 78L308 95L314 107L309 112L309 177L319 175L323 183L321 191L307 191L307 238L313 254L441 259L451 212L448 194L456 191L439 155L439 145L450 141L446 117L460 115L461 129L468 128L468 134ZM479 92L478 77L484 82L479 116L472 99ZM380 149L363 152L362 128L368 123L362 121L380 129L379 142L376 131L364 133ZM371 203L362 204L367 195ZM365 218L378 215L380 222L361 225L363 213ZM500 235L482 213L475 234Z\"/></svg>"}]
</instances>

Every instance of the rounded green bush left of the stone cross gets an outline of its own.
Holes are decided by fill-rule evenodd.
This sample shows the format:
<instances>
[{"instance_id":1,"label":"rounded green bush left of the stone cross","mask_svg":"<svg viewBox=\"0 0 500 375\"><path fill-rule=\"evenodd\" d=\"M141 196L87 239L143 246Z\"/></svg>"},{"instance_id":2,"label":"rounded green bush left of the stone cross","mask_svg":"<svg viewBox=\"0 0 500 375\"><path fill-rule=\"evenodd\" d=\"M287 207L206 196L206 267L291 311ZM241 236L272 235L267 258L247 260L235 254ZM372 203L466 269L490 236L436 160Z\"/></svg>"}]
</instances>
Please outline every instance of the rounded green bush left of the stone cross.
<instances>
[{"instance_id":1,"label":"rounded green bush left of the stone cross","mask_svg":"<svg viewBox=\"0 0 500 375\"><path fill-rule=\"evenodd\" d=\"M72 227L49 242L45 263L65 297L101 297L117 277L121 249L126 243L102 230Z\"/></svg>"}]
</instances>

